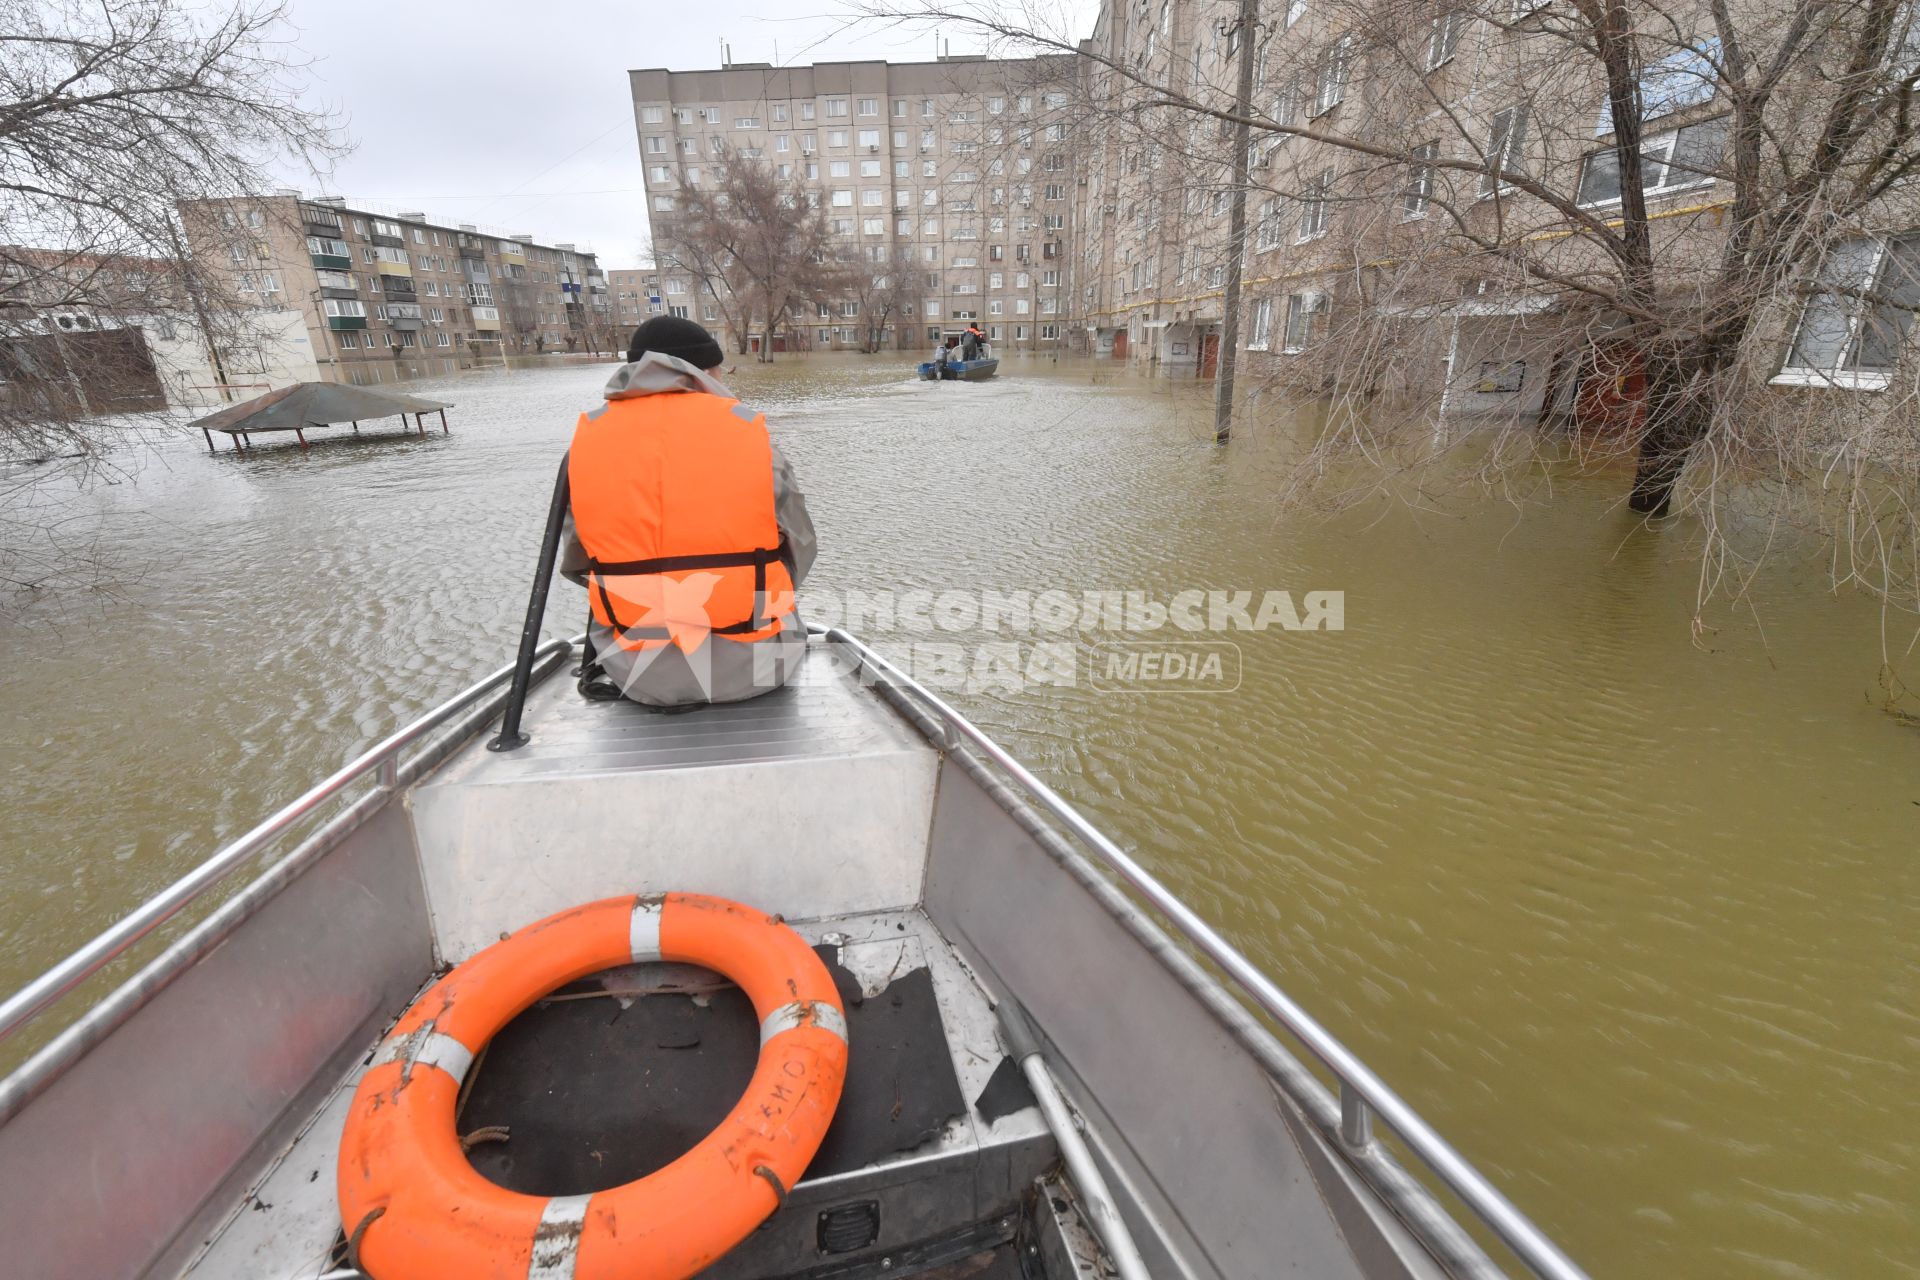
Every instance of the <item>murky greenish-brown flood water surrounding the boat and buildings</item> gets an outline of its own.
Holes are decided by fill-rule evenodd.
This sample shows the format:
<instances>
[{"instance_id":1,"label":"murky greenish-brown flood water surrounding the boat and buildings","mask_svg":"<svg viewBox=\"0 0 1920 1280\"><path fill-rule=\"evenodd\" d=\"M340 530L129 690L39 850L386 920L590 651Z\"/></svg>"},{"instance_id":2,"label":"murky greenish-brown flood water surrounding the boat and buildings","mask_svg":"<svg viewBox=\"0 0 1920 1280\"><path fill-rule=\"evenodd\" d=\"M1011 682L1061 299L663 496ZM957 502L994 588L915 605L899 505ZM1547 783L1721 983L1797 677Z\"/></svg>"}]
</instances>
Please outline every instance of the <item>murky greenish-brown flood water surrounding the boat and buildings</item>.
<instances>
[{"instance_id":1,"label":"murky greenish-brown flood water surrounding the boat and buildings","mask_svg":"<svg viewBox=\"0 0 1920 1280\"><path fill-rule=\"evenodd\" d=\"M1619 474L1284 514L1279 439L1208 447L1192 386L904 372L733 378L808 591L1344 591L1342 631L1233 635L1233 693L954 699L1592 1274L1920 1276L1920 727L1816 547L1695 643L1695 547ZM419 384L451 436L182 436L61 503L104 568L0 612L0 988L507 660L603 374Z\"/></svg>"}]
</instances>

